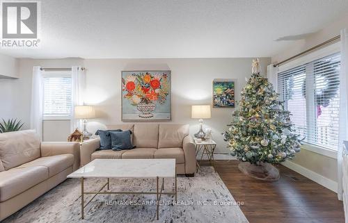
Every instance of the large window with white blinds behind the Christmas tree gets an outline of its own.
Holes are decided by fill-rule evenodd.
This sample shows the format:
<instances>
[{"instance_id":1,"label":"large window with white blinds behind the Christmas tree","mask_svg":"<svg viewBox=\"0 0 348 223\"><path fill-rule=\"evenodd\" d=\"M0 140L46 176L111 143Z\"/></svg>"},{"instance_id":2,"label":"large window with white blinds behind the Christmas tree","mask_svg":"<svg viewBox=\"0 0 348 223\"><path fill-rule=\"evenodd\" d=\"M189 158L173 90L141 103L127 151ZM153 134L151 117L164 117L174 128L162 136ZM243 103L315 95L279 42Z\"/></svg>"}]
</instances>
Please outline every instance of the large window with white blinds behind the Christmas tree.
<instances>
[{"instance_id":1,"label":"large window with white blinds behind the Christmas tree","mask_svg":"<svg viewBox=\"0 0 348 223\"><path fill-rule=\"evenodd\" d=\"M340 53L278 74L280 100L292 113L304 142L337 149L340 102Z\"/></svg>"}]
</instances>

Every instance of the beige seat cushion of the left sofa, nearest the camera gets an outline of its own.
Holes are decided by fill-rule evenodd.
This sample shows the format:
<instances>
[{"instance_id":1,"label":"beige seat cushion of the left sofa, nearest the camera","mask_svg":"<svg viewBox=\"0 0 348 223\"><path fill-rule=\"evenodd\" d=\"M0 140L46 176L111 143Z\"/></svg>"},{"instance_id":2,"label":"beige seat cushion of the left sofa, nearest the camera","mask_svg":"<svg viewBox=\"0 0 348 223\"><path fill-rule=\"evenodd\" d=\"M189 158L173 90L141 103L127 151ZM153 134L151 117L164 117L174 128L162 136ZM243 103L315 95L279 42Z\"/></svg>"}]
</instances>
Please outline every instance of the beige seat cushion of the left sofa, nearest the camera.
<instances>
[{"instance_id":1,"label":"beige seat cushion of the left sofa, nearest the camera","mask_svg":"<svg viewBox=\"0 0 348 223\"><path fill-rule=\"evenodd\" d=\"M6 201L48 179L47 167L23 167L0 172L0 201Z\"/></svg>"}]
</instances>

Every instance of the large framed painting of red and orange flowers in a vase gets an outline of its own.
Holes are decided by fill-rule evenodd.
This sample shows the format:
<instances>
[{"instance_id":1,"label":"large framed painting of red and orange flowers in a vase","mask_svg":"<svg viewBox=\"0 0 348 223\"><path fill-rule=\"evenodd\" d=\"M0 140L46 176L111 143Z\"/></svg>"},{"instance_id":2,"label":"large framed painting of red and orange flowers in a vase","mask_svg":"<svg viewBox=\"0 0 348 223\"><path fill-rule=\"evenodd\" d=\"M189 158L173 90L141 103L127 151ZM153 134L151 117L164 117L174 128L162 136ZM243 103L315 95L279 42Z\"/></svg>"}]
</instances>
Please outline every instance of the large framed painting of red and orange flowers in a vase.
<instances>
[{"instance_id":1,"label":"large framed painting of red and orange flowers in a vase","mask_svg":"<svg viewBox=\"0 0 348 223\"><path fill-rule=\"evenodd\" d=\"M171 71L122 71L122 121L171 120Z\"/></svg>"}]
</instances>

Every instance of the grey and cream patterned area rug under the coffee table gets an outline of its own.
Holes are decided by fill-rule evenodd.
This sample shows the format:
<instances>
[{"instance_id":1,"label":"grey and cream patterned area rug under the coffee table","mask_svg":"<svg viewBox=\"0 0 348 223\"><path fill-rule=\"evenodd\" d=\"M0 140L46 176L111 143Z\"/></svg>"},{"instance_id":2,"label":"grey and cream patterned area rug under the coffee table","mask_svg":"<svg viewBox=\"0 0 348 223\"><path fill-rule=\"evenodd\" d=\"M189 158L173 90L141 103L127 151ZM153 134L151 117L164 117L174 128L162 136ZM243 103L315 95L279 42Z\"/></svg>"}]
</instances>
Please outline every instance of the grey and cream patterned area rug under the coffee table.
<instances>
[{"instance_id":1,"label":"grey and cream patterned area rug under the coffee table","mask_svg":"<svg viewBox=\"0 0 348 223\"><path fill-rule=\"evenodd\" d=\"M106 179L86 179L85 190L98 190ZM173 179L166 179L169 192ZM155 191L155 179L111 179L116 191ZM67 179L3 223L24 222L248 222L219 174L212 167L201 167L195 177L177 177L177 203L162 195L159 220L156 218L156 195L97 195L85 208L81 220L81 186L79 179ZM93 195L85 195L85 199Z\"/></svg>"}]
</instances>

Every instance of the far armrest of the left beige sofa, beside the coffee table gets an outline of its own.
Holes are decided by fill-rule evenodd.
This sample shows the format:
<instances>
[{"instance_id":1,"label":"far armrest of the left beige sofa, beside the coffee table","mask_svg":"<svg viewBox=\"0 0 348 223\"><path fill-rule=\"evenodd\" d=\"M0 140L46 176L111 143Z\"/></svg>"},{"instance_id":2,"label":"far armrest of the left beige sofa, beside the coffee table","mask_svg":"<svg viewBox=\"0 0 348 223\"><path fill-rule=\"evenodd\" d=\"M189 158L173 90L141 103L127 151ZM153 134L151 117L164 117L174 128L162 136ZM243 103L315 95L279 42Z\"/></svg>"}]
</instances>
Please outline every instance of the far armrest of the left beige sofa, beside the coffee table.
<instances>
[{"instance_id":1,"label":"far armrest of the left beige sofa, beside the coffee table","mask_svg":"<svg viewBox=\"0 0 348 223\"><path fill-rule=\"evenodd\" d=\"M55 156L61 154L74 155L72 169L75 171L80 166L80 144L79 142L41 142L41 156Z\"/></svg>"}]
</instances>

